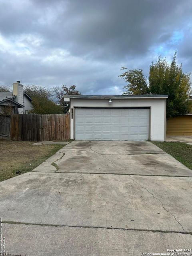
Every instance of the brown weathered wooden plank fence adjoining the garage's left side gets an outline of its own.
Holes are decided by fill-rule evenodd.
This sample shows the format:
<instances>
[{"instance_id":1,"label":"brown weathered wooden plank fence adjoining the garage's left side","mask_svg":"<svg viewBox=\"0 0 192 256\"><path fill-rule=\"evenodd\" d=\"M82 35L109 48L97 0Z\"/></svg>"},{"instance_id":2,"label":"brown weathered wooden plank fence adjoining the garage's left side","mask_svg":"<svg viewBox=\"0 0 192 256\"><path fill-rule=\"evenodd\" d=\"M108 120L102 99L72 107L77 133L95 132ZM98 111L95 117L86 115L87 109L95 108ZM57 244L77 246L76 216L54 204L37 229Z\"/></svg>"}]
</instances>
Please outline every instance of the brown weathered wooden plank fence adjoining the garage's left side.
<instances>
[{"instance_id":1,"label":"brown weathered wooden plank fence adjoining the garage's left side","mask_svg":"<svg viewBox=\"0 0 192 256\"><path fill-rule=\"evenodd\" d=\"M11 117L10 140L69 140L70 115L14 114Z\"/></svg>"}]
</instances>

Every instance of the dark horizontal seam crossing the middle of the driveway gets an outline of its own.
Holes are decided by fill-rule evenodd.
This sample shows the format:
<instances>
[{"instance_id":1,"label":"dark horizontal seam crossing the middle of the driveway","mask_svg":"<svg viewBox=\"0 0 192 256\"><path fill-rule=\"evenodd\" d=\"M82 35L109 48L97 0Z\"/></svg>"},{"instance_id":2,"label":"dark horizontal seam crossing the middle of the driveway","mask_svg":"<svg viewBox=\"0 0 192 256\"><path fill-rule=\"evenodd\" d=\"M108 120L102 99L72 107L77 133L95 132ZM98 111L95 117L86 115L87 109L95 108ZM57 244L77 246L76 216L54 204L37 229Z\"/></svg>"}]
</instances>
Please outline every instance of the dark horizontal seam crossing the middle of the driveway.
<instances>
[{"instance_id":1,"label":"dark horizontal seam crossing the middle of the driveway","mask_svg":"<svg viewBox=\"0 0 192 256\"><path fill-rule=\"evenodd\" d=\"M123 169L121 169L123 170ZM31 171L38 172L38 171ZM46 172L45 173L61 173L61 174L106 174L106 175L132 175L132 176L152 176L152 177L169 177L169 178L192 178L192 176L175 176L175 175L155 175L155 174L132 174L132 173L113 173L113 172ZM41 173L41 172L38 172Z\"/></svg>"}]
</instances>

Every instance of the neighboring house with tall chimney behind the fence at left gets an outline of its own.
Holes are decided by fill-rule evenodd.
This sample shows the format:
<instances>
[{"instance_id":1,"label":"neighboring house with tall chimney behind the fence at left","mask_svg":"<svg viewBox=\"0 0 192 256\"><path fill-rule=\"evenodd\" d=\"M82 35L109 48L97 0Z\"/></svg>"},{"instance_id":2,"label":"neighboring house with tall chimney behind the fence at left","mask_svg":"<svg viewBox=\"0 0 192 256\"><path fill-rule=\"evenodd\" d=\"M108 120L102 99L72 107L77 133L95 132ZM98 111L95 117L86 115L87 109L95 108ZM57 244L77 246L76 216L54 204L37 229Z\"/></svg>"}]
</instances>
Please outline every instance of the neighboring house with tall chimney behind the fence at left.
<instances>
[{"instance_id":1,"label":"neighboring house with tall chimney behind the fence at left","mask_svg":"<svg viewBox=\"0 0 192 256\"><path fill-rule=\"evenodd\" d=\"M0 92L0 112L5 113L6 109L14 114L28 114L32 109L32 99L23 92L20 81L13 83L13 92Z\"/></svg>"}]
</instances>

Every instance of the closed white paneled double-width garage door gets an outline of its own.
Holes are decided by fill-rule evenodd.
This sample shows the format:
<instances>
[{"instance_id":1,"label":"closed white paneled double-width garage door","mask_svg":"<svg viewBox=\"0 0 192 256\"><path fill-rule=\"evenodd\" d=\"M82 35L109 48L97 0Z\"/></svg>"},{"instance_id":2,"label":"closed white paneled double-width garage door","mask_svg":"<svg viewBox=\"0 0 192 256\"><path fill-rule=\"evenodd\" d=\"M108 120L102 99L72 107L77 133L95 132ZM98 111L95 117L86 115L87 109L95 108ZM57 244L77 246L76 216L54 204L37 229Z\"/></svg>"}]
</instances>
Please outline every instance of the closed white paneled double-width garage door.
<instances>
[{"instance_id":1,"label":"closed white paneled double-width garage door","mask_svg":"<svg viewBox=\"0 0 192 256\"><path fill-rule=\"evenodd\" d=\"M75 140L148 140L149 109L75 108Z\"/></svg>"}]
</instances>

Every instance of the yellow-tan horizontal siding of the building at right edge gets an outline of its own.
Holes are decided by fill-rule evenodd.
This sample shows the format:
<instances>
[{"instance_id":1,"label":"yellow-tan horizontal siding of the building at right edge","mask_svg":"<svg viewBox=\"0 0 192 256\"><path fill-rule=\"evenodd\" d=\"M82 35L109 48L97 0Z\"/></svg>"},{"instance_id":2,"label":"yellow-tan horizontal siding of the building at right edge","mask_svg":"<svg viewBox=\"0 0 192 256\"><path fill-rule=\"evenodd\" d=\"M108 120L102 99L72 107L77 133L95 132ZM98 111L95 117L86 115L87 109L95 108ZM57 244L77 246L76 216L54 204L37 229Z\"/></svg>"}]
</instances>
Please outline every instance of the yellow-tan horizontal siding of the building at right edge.
<instances>
[{"instance_id":1,"label":"yellow-tan horizontal siding of the building at right edge","mask_svg":"<svg viewBox=\"0 0 192 256\"><path fill-rule=\"evenodd\" d=\"M167 136L192 135L192 116L178 116L167 120Z\"/></svg>"}]
</instances>

